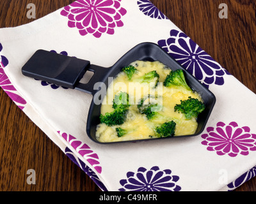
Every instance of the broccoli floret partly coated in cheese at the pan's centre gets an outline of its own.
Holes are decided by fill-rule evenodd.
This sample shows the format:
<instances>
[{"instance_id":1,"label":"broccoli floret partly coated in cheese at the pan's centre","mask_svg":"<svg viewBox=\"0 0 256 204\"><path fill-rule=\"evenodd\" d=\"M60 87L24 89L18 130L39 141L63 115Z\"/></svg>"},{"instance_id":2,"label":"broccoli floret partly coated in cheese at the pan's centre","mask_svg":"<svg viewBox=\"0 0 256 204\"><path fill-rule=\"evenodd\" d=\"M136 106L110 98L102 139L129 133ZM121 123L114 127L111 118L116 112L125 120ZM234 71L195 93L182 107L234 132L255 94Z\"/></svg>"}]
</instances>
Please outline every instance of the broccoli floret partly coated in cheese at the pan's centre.
<instances>
[{"instance_id":1,"label":"broccoli floret partly coated in cheese at the pan's centre","mask_svg":"<svg viewBox=\"0 0 256 204\"><path fill-rule=\"evenodd\" d=\"M152 96L147 96L147 98L143 98L138 105L138 109L141 114L145 114L147 119L152 119L159 109L156 98Z\"/></svg>"}]
</instances>

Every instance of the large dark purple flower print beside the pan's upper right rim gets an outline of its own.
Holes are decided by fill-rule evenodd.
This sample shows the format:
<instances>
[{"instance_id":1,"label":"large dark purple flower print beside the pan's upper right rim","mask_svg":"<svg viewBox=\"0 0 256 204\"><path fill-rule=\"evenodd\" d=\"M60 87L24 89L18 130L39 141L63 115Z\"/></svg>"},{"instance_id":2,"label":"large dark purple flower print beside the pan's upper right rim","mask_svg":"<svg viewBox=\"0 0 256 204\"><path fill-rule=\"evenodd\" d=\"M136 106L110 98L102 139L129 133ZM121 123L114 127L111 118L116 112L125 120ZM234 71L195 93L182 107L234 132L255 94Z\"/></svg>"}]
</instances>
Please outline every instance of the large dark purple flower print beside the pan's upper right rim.
<instances>
[{"instance_id":1,"label":"large dark purple flower print beside the pan's upper right rim","mask_svg":"<svg viewBox=\"0 0 256 204\"><path fill-rule=\"evenodd\" d=\"M229 75L210 55L192 41L186 34L172 30L170 38L159 40L158 45L179 64L194 75L205 87L211 84L223 85L224 75Z\"/></svg>"}]
</instances>

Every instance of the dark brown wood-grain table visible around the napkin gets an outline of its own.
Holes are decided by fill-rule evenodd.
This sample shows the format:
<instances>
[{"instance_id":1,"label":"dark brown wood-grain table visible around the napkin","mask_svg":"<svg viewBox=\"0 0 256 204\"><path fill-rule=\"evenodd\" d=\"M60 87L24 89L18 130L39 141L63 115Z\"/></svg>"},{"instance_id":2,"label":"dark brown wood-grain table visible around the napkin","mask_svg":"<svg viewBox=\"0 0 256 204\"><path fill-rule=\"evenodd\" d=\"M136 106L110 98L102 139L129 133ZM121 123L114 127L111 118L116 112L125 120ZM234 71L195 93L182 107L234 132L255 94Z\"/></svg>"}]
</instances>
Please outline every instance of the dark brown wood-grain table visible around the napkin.
<instances>
[{"instance_id":1,"label":"dark brown wood-grain table visible around the napkin","mask_svg":"<svg viewBox=\"0 0 256 204\"><path fill-rule=\"evenodd\" d=\"M1 0L0 27L35 20L26 17L29 3L36 5L38 19L72 2ZM239 2L152 0L184 33L256 93L256 1ZM221 3L228 5L228 18L219 18ZM2 89L0 103L0 191L100 191ZM36 171L35 185L26 182L29 169ZM236 191L256 191L256 178Z\"/></svg>"}]
</instances>

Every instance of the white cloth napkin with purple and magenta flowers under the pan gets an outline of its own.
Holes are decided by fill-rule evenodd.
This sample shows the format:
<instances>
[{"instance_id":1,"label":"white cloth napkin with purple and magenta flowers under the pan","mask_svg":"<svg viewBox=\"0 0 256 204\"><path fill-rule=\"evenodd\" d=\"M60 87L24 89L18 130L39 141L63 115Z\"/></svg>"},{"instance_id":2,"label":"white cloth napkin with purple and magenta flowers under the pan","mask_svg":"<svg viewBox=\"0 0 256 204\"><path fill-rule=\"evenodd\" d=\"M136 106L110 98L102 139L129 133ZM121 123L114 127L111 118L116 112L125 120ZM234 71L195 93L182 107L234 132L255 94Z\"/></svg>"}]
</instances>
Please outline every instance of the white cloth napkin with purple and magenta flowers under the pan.
<instances>
[{"instance_id":1,"label":"white cloth napkin with purple and magenta flowers under the pan","mask_svg":"<svg viewBox=\"0 0 256 204\"><path fill-rule=\"evenodd\" d=\"M86 135L90 94L21 73L38 49L108 68L142 42L157 43L216 96L202 135L100 145ZM255 94L150 1L74 1L0 29L0 56L2 89L102 191L232 191L255 176Z\"/></svg>"}]
</instances>

